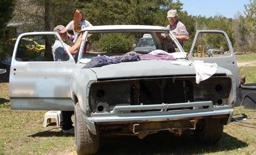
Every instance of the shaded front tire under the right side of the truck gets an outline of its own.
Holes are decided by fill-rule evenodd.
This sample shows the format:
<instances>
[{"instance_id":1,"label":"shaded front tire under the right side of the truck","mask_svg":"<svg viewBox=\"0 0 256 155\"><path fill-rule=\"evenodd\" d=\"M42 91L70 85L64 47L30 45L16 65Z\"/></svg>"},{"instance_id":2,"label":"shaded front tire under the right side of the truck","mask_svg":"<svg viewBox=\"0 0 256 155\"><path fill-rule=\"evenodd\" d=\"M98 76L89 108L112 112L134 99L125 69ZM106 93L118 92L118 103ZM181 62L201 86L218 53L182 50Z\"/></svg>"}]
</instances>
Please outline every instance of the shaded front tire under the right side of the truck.
<instances>
[{"instance_id":1,"label":"shaded front tire under the right side of the truck","mask_svg":"<svg viewBox=\"0 0 256 155\"><path fill-rule=\"evenodd\" d=\"M220 119L201 119L196 123L193 134L196 141L200 143L216 143L220 140L223 133L223 124Z\"/></svg>"}]
</instances>

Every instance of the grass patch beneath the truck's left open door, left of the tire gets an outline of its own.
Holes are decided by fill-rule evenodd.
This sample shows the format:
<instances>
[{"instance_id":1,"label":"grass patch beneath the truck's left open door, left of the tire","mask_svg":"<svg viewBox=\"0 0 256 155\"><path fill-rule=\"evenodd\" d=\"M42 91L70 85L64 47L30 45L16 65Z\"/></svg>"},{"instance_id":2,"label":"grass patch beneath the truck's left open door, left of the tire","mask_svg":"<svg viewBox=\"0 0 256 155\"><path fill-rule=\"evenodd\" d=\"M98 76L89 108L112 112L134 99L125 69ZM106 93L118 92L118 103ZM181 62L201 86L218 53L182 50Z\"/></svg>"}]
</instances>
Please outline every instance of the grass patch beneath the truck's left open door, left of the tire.
<instances>
[{"instance_id":1,"label":"grass patch beneath the truck's left open door, left of the tire","mask_svg":"<svg viewBox=\"0 0 256 155\"><path fill-rule=\"evenodd\" d=\"M54 119L50 126L43 127L46 111L12 110L8 88L8 83L0 83L0 154L70 154L75 151L75 137L59 132Z\"/></svg>"}]
</instances>

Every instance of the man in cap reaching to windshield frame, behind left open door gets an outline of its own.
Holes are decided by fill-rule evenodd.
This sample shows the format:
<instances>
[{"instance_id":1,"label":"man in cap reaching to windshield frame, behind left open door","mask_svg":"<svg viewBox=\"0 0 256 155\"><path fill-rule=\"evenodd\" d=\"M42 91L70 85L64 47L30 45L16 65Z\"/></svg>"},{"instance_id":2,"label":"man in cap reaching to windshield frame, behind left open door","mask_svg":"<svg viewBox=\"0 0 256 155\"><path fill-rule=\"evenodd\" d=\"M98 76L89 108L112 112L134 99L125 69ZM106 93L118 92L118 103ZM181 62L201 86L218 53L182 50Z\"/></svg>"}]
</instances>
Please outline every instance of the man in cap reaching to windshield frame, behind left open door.
<instances>
[{"instance_id":1,"label":"man in cap reaching to windshield frame, behind left open door","mask_svg":"<svg viewBox=\"0 0 256 155\"><path fill-rule=\"evenodd\" d=\"M63 46L65 46L68 51L70 51L70 53L72 55L76 55L79 52L79 48L81 46L81 42L82 42L82 37L83 35L80 35L80 37L77 39L77 42L74 44L74 46L70 47L68 46L68 44L66 44L65 42L67 41L67 28L65 28L62 25L56 26L53 31L54 32L58 32L58 34L60 34L60 37L62 39ZM55 43L53 44L53 59L54 61L68 61L69 57L68 54L66 52L66 49L64 48L61 44L61 41L57 38ZM74 127L73 127L73 122L72 122L72 114L74 112L73 111L61 111L61 121L60 121L60 131L63 133L71 133L74 134Z\"/></svg>"}]
</instances>

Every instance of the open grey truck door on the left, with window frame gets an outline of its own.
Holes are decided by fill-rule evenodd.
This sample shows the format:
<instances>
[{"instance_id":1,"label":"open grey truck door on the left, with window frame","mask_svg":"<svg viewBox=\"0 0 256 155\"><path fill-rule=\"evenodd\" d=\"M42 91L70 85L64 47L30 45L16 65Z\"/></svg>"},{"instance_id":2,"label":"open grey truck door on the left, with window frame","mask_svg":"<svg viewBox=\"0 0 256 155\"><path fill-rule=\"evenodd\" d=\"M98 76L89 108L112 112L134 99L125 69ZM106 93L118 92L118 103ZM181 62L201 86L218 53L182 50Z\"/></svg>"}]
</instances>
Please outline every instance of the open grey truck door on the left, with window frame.
<instances>
[{"instance_id":1,"label":"open grey truck door on the left, with window frame","mask_svg":"<svg viewBox=\"0 0 256 155\"><path fill-rule=\"evenodd\" d=\"M46 36L48 39L45 39ZM75 61L68 49L68 61L53 61L52 46L56 37L60 38L55 32L33 32L21 34L17 38L9 79L12 109L74 109L70 77ZM38 44L31 46L24 39Z\"/></svg>"}]
</instances>

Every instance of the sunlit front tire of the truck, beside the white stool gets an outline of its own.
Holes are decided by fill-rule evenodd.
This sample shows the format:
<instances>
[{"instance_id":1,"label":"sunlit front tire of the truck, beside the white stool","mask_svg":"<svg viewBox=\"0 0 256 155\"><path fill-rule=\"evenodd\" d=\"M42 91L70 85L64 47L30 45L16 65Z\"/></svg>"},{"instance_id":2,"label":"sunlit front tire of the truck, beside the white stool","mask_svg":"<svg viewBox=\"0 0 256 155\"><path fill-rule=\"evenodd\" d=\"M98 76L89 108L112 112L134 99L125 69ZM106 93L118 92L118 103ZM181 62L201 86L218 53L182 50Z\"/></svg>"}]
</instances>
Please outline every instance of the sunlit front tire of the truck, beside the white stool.
<instances>
[{"instance_id":1,"label":"sunlit front tire of the truck, beside the white stool","mask_svg":"<svg viewBox=\"0 0 256 155\"><path fill-rule=\"evenodd\" d=\"M79 155L95 154L99 150L99 133L95 135L88 130L78 102L75 106L75 141Z\"/></svg>"}]
</instances>

